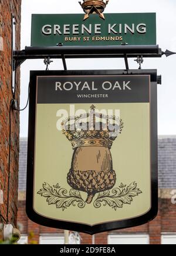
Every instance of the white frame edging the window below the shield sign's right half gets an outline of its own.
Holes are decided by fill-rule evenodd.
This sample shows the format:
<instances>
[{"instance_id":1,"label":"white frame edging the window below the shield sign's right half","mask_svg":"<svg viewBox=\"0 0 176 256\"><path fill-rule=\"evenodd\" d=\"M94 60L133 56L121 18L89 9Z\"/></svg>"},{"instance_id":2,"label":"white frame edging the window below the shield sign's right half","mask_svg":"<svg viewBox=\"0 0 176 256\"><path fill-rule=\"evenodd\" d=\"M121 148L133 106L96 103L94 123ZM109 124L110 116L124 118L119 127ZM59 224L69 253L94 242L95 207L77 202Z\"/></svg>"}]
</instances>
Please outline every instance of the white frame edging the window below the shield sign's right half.
<instances>
[{"instance_id":1,"label":"white frame edging the window below the shield sign's right half","mask_svg":"<svg viewBox=\"0 0 176 256\"><path fill-rule=\"evenodd\" d=\"M131 238L136 238L136 240L137 240L137 238L146 238L146 242L145 242L145 244L150 244L150 235L149 234L146 234L146 233L143 233L143 234L109 234L108 236L107 236L107 243L108 244L111 244L111 238L117 238L117 240L118 240L118 238L124 238L124 240L127 240L128 238L129 239L131 239ZM118 244L120 244L120 243L118 243ZM128 242L127 242L127 244L128 244ZM138 244L138 243L133 243L133 244Z\"/></svg>"}]
</instances>

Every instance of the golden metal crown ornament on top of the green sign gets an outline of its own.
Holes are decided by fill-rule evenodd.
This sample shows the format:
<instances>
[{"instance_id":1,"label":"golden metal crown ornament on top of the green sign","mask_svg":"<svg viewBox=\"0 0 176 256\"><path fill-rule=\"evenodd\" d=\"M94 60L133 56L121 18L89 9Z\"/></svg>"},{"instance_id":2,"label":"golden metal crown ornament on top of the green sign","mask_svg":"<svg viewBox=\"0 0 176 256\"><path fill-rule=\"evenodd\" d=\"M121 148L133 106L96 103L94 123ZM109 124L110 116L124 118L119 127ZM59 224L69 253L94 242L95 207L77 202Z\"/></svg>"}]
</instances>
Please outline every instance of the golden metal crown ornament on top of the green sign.
<instances>
[{"instance_id":1,"label":"golden metal crown ornament on top of the green sign","mask_svg":"<svg viewBox=\"0 0 176 256\"><path fill-rule=\"evenodd\" d=\"M84 20L89 18L89 14L99 14L100 18L104 19L103 12L108 2L109 0L83 0L83 3L79 2L86 13Z\"/></svg>"}]
</instances>

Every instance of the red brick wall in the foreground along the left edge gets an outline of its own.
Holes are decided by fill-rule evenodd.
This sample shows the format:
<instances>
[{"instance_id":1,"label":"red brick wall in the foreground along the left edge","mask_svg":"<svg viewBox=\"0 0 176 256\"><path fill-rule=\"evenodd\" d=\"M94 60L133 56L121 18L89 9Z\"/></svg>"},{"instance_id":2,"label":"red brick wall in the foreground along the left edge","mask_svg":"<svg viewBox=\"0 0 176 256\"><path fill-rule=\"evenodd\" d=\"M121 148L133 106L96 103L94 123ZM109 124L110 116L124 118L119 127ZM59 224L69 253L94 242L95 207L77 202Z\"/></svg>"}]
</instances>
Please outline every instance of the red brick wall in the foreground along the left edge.
<instances>
[{"instance_id":1,"label":"red brick wall in the foreground along the left edge","mask_svg":"<svg viewBox=\"0 0 176 256\"><path fill-rule=\"evenodd\" d=\"M16 47L20 49L21 0L0 0L0 36L4 39L4 51L0 51L0 189L4 192L4 204L0 205L0 222L7 219L9 189L9 222L16 225L18 200L19 112L11 112L11 176L9 177L9 108L11 91L11 14L16 17ZM16 95L19 102L19 71L16 74Z\"/></svg>"}]
</instances>

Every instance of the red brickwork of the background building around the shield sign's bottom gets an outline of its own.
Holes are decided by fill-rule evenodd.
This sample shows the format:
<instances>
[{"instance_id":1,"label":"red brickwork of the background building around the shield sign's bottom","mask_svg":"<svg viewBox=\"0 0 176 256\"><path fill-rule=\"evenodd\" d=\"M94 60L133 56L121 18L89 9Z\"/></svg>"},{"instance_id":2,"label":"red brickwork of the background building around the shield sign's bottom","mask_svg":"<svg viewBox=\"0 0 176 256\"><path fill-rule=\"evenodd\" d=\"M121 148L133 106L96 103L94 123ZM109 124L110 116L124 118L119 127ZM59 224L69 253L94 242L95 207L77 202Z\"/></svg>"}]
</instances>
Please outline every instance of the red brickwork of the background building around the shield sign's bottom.
<instances>
[{"instance_id":1,"label":"red brickwork of the background building around the shield sign's bottom","mask_svg":"<svg viewBox=\"0 0 176 256\"><path fill-rule=\"evenodd\" d=\"M113 231L113 233L145 233L150 235L150 244L161 244L162 232L176 232L176 206L171 204L170 199L159 199L158 216L147 224L140 225L138 227L126 228L123 230ZM38 224L34 224L28 220L25 214L25 201L19 201L18 222L23 224L22 234L30 234L33 232L33 238L29 239L29 242L39 242L40 234L48 233L63 233L63 230L56 230L55 228L42 227ZM94 236L95 244L107 244L108 232L96 234ZM92 244L92 235L80 233L82 238L82 244Z\"/></svg>"}]
</instances>

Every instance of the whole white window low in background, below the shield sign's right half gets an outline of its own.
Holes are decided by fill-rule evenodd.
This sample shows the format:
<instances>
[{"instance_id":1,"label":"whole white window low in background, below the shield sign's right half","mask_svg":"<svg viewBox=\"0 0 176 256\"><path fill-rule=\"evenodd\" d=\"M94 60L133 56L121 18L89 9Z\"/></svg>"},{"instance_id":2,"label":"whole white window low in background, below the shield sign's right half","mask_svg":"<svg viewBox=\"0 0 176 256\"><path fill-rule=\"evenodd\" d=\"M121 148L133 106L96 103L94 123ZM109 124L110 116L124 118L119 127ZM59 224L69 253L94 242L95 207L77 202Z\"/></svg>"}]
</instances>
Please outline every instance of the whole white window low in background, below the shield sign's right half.
<instances>
[{"instance_id":1,"label":"whole white window low in background, below the shield sign's right half","mask_svg":"<svg viewBox=\"0 0 176 256\"><path fill-rule=\"evenodd\" d=\"M149 244L147 234L109 234L108 244Z\"/></svg>"}]
</instances>

